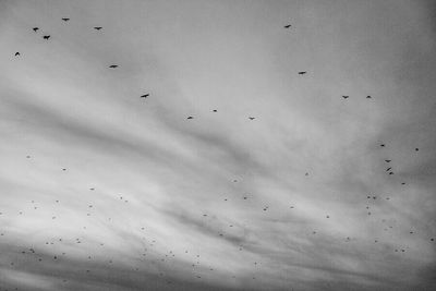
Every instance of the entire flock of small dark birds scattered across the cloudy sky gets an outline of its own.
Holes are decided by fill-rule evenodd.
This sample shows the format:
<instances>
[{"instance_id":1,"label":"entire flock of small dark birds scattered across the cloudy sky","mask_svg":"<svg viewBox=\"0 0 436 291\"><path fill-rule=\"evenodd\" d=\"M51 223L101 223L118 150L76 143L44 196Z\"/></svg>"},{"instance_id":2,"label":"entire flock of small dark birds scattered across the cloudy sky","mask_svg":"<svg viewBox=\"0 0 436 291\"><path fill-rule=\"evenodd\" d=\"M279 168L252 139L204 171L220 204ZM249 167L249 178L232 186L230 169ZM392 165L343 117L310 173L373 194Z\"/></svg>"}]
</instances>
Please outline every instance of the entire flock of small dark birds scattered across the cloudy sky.
<instances>
[{"instance_id":1,"label":"entire flock of small dark birds scattered across the cloudy sky","mask_svg":"<svg viewBox=\"0 0 436 291\"><path fill-rule=\"evenodd\" d=\"M63 19L61 19L61 20L62 20L63 22L70 22L70 19L69 19L69 17L63 17ZM288 25L284 25L283 27L284 27L286 29L290 29L290 28L292 27L292 25L291 25L291 24L288 24ZM33 27L32 29L33 29L35 33L38 33L38 32L40 31L39 27ZM102 29L102 26L95 26L94 29L95 29L95 31L101 31L101 29ZM44 34L44 35L43 35L43 38L44 38L45 40L49 40L50 37L51 37L51 36L48 35L48 34ZM20 51L16 51L16 52L15 52L15 57L20 57L20 56L21 56ZM118 64L110 64L110 65L109 65L109 69L117 69L117 68L119 68ZM306 72L306 71L300 71L300 72L298 72L298 74L299 74L299 75L305 75L305 74L307 74L307 72ZM144 98L144 99L145 99L145 98L148 98L149 96L150 96L150 94L147 93L147 94L141 95L140 98ZM343 99L348 99L349 97L350 97L349 95L343 95L343 96L342 96ZM368 96L366 96L366 98L367 98L367 99L372 99L372 96L368 95ZM217 112L217 110L214 109L213 112ZM192 120L192 119L194 119L193 116L189 116L189 117L187 117L187 120ZM250 120L254 120L255 118L254 118L254 117L249 117L249 119L250 119ZM385 148L385 147L386 147L385 144L380 144L379 146L380 146L382 148ZM415 148L415 151L419 151L419 148ZM387 154L387 153L386 153L386 154ZM33 157L28 155L28 156L26 156L26 158L27 158L27 159L31 159L31 158L33 158ZM393 165L392 159L385 159L384 162L386 162L385 172L386 172L387 174L389 174L389 175L395 174L393 166L392 166L392 165ZM66 169L66 168L61 168L61 170L65 172L68 169ZM305 175L307 177L307 175L308 175L308 172L306 172ZM237 183L238 180L233 180L233 182ZM401 184L402 184L402 185L405 185L405 182L401 182ZM89 191L95 191L95 190L96 190L95 187L89 187ZM367 211L367 215L368 215L368 216L372 215L372 207L373 207L373 205L377 202L377 198L378 198L378 197L377 197L376 195L367 195L367 196L366 196L366 199L367 199L367 203L366 203L366 211ZM385 197L386 201L390 201L390 198L391 198L391 197ZM249 196L243 196L242 199L243 199L243 201L247 201L247 199L249 199ZM123 204L129 204L129 201L125 199L125 197L120 196L120 201L121 201ZM230 199L229 199L228 197L226 197L226 198L223 198L223 201L225 201L225 202L229 202ZM36 201L31 201L31 204L33 205L33 209L34 209L34 210L38 210L40 207L43 207L43 205L38 204ZM56 201L55 201L55 204L58 205L58 204L61 204L61 202L60 202L59 199L56 199ZM298 206L295 206L295 205L290 206L291 209L294 209L295 207L298 207ZM94 205L93 205L92 203L89 203L89 205L87 206L86 209L87 209L87 210L86 210L86 216L89 217L89 216L93 215L93 211L95 210L95 207L94 207ZM264 206L263 211L268 211L268 210L269 210L269 206ZM7 213L1 211L1 209L0 209L0 219L2 219L2 217L4 217L5 215L7 215ZM11 214L11 215L12 215L12 214ZM24 213L23 213L23 211L19 211L19 215L22 216L22 215L24 215ZM205 217L205 218L208 217L208 216L209 216L209 214L203 214L203 217ZM57 217L56 215L53 215L53 216L51 217L52 220L56 220L57 218L58 218L58 217ZM329 215L329 214L325 215L325 218L326 218L326 219L329 219L329 218L330 218L330 215ZM111 221L111 219L112 219L112 218L108 218L109 221ZM385 231L388 231L389 229L392 229L392 228L393 228L393 226L387 223L387 221L386 221L385 219L384 219L382 222L386 225L386 226L385 226ZM390 221L390 222L391 222L391 221ZM233 225L229 225L229 228L233 228ZM86 230L86 226L83 226L83 229ZM142 227L142 228L141 228L141 231L145 231L145 229L146 229L145 227ZM313 234L313 235L316 235L317 233L318 233L318 232L317 232L316 230L313 230L313 231L312 231L312 234ZM410 231L410 234L415 234L415 231L411 230L411 231ZM8 232L1 231L1 233L0 233L0 239L4 238L4 237L7 237L7 235L8 235ZM218 237L226 237L226 233L225 233L225 232L219 232L219 233L217 233L217 235L218 235ZM156 252L155 254L150 254L150 250L153 251L153 247L157 244L156 240L149 240L149 239L147 239L146 237L143 237L142 240L144 240L144 242L145 242L146 245L147 245L147 247L144 247L143 252L140 254L140 256L143 257L143 259L141 260L142 264L165 264L166 262L171 262L171 258L174 258L174 257L177 257L177 255L178 255L177 252L173 251L173 250L168 250L168 252L167 252L167 253L164 253L164 254L160 254L159 252ZM434 238L428 238L428 240L429 240L431 242L434 242ZM351 241L352 241L352 238L346 237L346 238L344 238L344 241L346 241L346 242L351 242ZM84 244L84 243L85 243L85 239L84 239L84 238L74 238L74 239L72 239L72 238L69 238L69 239L68 239L68 238L48 238L47 241L45 242L45 245L46 245L46 246L56 246L56 245L60 245L60 247L57 247L57 248L56 248L56 250L58 250L58 251L57 251L58 253L53 253L53 254L52 254L52 256L51 256L51 258L50 258L50 259L51 259L51 260L50 260L50 264L53 264L55 262L59 262L59 260L63 260L63 259L66 259L66 258L68 258L68 253L66 253L66 252L60 252L60 251L59 251L59 250L62 248L63 244L66 243L66 242L68 242L68 243L74 243L74 244L77 244L77 245L78 245L78 244ZM378 238L375 238L374 243L378 243L378 242L379 242L379 239L378 239ZM0 241L0 243L1 243L1 241ZM89 242L89 244L90 244L90 243L92 243L92 242ZM164 242L162 242L162 243L164 243ZM105 247L105 243L104 243L104 242L99 242L98 244L99 244L100 247ZM39 245L39 246L38 246L38 245L28 245L27 247L22 248L21 251L20 251L20 250L16 250L16 251L20 252L21 255L26 256L27 260L32 260L32 259L33 259L33 260L36 260L36 262L38 262L38 263L43 263L44 259L48 259L47 254L50 253L50 251L41 251L41 252L38 252L38 250L43 250L43 248L45 248L43 245ZM402 252L402 253L404 253L407 248L408 248L408 246L402 246L402 247L393 248L392 252ZM46 248L45 248L45 250L46 250ZM53 248L53 250L55 250L55 248ZM243 245L239 245L239 246L238 246L238 250L239 250L240 252L243 252L244 246L243 246ZM190 252L192 252L192 251L190 251L190 250L185 250L185 251L184 251L185 254L189 254ZM147 258L148 258L148 257L150 257L150 258L148 259L148 263L147 263ZM191 264L191 267L193 268L194 277L197 278L197 279L202 279L202 276L201 276L199 272L195 272L195 269L196 269L196 268L202 268L203 270L206 270L206 269L207 269L207 270L209 270L209 271L214 271L214 270L215 270L215 268L214 268L213 266L207 266L207 264L203 264L203 263L201 262L199 257L201 257L199 254L195 254L195 253L194 253L194 255L191 257L191 259L193 259L193 262L192 262L192 264ZM93 259L96 259L96 260L98 260L99 263L101 263L101 258L100 258L100 257L96 258L96 256L94 256L93 254L89 254L89 255L87 256L87 260L88 260L88 262L92 262ZM1 262L1 264L4 264L4 262ZM114 264L114 258L108 257L108 258L106 259L106 264L108 264L108 265L113 265L113 264ZM261 263L258 263L258 262L252 262L251 264L253 264L253 265L256 266L256 267L258 267L258 266L261 265ZM10 265L11 268L15 267L15 266L16 266L16 260L10 262L9 265ZM19 267L20 267L20 266L19 266ZM146 269L147 269L147 268L145 268L144 270L146 270ZM135 266L134 268L132 268L132 271L141 271L141 266ZM82 272L83 272L84 275L89 275L89 276L90 276L92 269L90 269L90 268L85 268L85 269L82 270ZM171 275L166 276L166 274L164 274L162 271L160 271L160 272L159 272L159 276L162 277L162 278L167 278L167 279L166 279L166 282L167 282L167 283L169 283L169 284L172 283ZM233 278L237 278L237 277L233 276ZM253 279L255 280L256 277L253 276ZM69 281L68 279L63 279L63 282L64 282L64 283L68 283L68 281ZM1 282L0 282L0 290L8 290L8 289L1 289L1 288L2 288L2 287L1 287ZM15 288L14 290L19 290L19 288Z\"/></svg>"}]
</instances>

